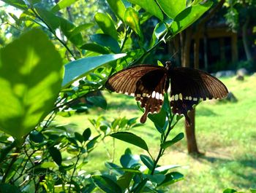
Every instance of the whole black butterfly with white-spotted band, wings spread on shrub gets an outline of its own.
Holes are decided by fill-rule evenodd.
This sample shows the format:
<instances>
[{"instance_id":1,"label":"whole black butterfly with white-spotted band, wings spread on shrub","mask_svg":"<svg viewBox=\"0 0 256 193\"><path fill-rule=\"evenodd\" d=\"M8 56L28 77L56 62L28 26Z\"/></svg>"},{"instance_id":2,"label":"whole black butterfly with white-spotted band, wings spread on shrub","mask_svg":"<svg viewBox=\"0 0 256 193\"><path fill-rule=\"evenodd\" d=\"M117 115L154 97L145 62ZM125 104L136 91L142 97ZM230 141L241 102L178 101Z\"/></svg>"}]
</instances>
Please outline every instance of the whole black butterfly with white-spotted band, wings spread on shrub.
<instances>
[{"instance_id":1,"label":"whole black butterfly with white-spotted band, wings spread on shrub","mask_svg":"<svg viewBox=\"0 0 256 193\"><path fill-rule=\"evenodd\" d=\"M173 114L184 114L201 100L225 98L227 87L205 71L193 68L175 68L167 62L165 67L140 65L118 71L105 84L108 90L135 96L145 108L140 122L146 122L148 113L161 110L164 92L170 84L170 107Z\"/></svg>"}]
</instances>

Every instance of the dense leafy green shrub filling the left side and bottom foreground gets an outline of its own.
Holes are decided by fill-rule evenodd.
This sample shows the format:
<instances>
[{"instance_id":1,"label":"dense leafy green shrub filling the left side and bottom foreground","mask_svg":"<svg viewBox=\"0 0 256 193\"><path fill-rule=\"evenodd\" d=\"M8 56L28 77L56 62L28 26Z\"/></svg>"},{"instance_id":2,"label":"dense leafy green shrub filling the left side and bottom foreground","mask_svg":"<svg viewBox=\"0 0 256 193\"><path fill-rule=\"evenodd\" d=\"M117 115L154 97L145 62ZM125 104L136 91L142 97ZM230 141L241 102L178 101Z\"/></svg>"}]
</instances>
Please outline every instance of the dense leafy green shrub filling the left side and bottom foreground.
<instances>
[{"instance_id":1,"label":"dense leafy green shrub filling the left side and bottom foreground","mask_svg":"<svg viewBox=\"0 0 256 193\"><path fill-rule=\"evenodd\" d=\"M107 77L143 62L203 15L211 1L178 0L167 7L167 0L108 0L101 5L109 7L100 12L92 5L95 12L90 23L83 23L91 15L86 13L88 7L78 12L78 1L4 2L21 10L19 17L10 15L22 35L3 43L6 46L0 52L1 192L163 192L184 178L175 171L178 165L159 165L165 151L184 137L177 133L168 138L181 117L170 113L167 95L162 111L149 116L160 139L156 156L150 143L129 131L141 126L135 118L97 117L90 119L92 126L76 132L55 118L88 112L91 106L106 109L99 91ZM72 18L71 9L76 9L78 20ZM145 33L143 24L148 20L157 24ZM107 140L144 151L138 158L126 149L119 165L114 162L115 146L111 154L105 146L112 158L105 162L107 170L95 168L88 173L86 167L94 165L91 153Z\"/></svg>"}]
</instances>

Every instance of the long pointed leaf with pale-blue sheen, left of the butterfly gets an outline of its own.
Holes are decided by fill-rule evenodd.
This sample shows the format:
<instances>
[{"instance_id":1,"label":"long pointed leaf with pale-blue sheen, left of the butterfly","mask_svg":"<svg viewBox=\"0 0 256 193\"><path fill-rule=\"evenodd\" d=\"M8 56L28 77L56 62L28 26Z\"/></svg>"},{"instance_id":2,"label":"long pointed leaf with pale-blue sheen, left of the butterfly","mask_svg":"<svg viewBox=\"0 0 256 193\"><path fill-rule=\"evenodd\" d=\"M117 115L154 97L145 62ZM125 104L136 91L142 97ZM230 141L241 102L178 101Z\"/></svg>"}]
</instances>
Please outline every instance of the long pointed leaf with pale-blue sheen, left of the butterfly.
<instances>
[{"instance_id":1,"label":"long pointed leaf with pale-blue sheen, left of the butterfly","mask_svg":"<svg viewBox=\"0 0 256 193\"><path fill-rule=\"evenodd\" d=\"M123 58L126 54L118 55L99 55L94 57L81 58L65 65L65 74L62 82L63 87L69 86L75 80L85 76L90 71L95 70L99 66L109 63L118 58Z\"/></svg>"}]
</instances>

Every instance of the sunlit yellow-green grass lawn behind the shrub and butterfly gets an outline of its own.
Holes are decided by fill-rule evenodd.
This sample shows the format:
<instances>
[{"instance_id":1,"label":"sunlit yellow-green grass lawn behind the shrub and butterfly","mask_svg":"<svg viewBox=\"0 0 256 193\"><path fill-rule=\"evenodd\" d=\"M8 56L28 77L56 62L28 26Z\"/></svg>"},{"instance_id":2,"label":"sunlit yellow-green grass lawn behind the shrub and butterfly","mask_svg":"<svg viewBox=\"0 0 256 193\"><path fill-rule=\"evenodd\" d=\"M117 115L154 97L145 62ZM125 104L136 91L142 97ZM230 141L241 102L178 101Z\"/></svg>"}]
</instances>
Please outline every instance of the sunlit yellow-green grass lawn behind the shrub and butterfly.
<instances>
[{"instance_id":1,"label":"sunlit yellow-green grass lawn behind the shrub and butterfly","mask_svg":"<svg viewBox=\"0 0 256 193\"><path fill-rule=\"evenodd\" d=\"M256 76L247 76L244 82L235 78L222 79L228 90L238 98L237 103L204 101L196 108L196 134L201 157L187 154L186 139L165 151L160 165L181 165L177 170L184 174L184 181L170 186L168 192L222 192L230 187L249 192L256 189ZM76 131L91 127L88 119L104 116L109 121L117 117L140 117L133 98L104 92L108 109L91 109L89 114L79 114L70 118L58 117L61 123L75 123ZM138 119L139 121L139 119ZM93 129L92 129L93 130ZM184 120L170 133L170 137L184 131ZM159 133L148 119L145 125L135 127L130 132L139 135L149 145L151 154L157 156ZM95 133L95 135L97 135ZM106 146L111 149L112 138L106 138ZM104 162L110 160L100 143L91 153L85 170L89 172L105 169ZM122 141L116 141L115 162L129 147L133 154L145 151Z\"/></svg>"}]
</instances>

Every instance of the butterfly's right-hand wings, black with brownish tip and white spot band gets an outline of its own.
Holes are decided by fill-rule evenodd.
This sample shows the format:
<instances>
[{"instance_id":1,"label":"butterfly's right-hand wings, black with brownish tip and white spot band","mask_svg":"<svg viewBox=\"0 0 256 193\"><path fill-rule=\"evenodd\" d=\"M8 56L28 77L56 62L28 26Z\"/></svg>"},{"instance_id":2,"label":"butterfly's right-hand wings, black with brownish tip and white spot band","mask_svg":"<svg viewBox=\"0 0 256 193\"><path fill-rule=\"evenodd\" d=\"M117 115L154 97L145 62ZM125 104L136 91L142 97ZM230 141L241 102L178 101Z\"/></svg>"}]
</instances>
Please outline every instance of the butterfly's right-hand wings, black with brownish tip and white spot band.
<instances>
[{"instance_id":1,"label":"butterfly's right-hand wings, black with brownish tip and white spot band","mask_svg":"<svg viewBox=\"0 0 256 193\"><path fill-rule=\"evenodd\" d=\"M200 100L225 98L227 87L219 79L193 68L173 68L169 71L171 82L170 106L173 114L184 114Z\"/></svg>"}]
</instances>

